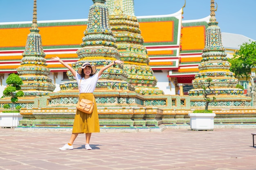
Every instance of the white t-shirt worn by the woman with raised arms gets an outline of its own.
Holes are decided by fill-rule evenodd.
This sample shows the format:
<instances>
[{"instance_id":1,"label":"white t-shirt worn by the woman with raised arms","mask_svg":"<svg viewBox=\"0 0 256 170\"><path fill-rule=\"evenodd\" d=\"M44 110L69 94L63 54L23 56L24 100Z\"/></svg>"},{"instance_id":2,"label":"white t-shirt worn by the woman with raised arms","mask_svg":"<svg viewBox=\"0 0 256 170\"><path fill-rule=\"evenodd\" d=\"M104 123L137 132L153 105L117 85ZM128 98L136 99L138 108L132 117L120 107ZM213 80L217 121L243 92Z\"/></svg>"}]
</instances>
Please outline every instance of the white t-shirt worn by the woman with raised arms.
<instances>
[{"instance_id":1,"label":"white t-shirt worn by the woman with raised arms","mask_svg":"<svg viewBox=\"0 0 256 170\"><path fill-rule=\"evenodd\" d=\"M96 87L97 81L99 80L99 72L97 72L96 74L94 74L93 76L87 79L84 79L84 78L81 79L80 74L76 72L75 79L78 83L78 87L80 84L79 93L92 93Z\"/></svg>"}]
</instances>

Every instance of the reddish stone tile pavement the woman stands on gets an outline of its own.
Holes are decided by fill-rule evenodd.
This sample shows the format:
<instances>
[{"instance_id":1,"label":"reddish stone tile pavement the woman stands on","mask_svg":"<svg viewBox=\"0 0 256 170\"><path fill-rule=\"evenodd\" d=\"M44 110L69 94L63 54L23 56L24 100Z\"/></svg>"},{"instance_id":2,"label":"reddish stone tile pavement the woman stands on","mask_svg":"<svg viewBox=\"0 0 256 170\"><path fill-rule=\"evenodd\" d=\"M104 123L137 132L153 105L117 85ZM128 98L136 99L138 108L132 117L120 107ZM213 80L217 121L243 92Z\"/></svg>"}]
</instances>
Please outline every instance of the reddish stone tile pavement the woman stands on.
<instances>
[{"instance_id":1,"label":"reddish stone tile pavement the woman stands on","mask_svg":"<svg viewBox=\"0 0 256 170\"><path fill-rule=\"evenodd\" d=\"M93 133L58 150L70 131L0 129L0 170L256 170L256 129Z\"/></svg>"}]
</instances>

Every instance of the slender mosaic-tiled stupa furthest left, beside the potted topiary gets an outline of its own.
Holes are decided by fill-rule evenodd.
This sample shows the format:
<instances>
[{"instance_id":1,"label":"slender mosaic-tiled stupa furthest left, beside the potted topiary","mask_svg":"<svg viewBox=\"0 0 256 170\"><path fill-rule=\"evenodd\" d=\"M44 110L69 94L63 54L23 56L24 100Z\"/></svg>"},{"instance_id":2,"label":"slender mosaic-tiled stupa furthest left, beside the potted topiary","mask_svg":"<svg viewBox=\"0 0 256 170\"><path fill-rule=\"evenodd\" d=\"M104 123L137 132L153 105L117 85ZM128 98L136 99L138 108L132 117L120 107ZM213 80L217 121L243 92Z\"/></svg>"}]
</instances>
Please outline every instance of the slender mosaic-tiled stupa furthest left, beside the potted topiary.
<instances>
[{"instance_id":1,"label":"slender mosaic-tiled stupa furthest left, beside the potted topiary","mask_svg":"<svg viewBox=\"0 0 256 170\"><path fill-rule=\"evenodd\" d=\"M27 36L26 48L22 53L21 66L17 68L17 72L23 81L21 90L25 96L45 96L54 91L55 85L47 76L50 70L47 68L40 30L37 25L36 0L34 0L32 23L32 28Z\"/></svg>"}]
</instances>

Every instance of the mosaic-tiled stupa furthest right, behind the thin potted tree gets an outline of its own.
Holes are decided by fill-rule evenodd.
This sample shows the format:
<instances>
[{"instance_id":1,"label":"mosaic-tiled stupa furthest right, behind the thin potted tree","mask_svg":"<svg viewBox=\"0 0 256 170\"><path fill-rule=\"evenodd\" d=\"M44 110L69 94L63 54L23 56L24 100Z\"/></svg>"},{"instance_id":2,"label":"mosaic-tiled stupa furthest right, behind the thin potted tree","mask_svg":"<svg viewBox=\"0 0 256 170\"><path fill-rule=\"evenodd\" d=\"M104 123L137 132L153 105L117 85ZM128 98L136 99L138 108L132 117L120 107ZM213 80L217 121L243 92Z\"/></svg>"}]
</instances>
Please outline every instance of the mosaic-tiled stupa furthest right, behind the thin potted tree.
<instances>
[{"instance_id":1,"label":"mosaic-tiled stupa furthest right, behind the thin potted tree","mask_svg":"<svg viewBox=\"0 0 256 170\"><path fill-rule=\"evenodd\" d=\"M220 27L215 17L214 0L211 0L211 18L209 27L206 30L205 47L202 53L202 60L199 64L199 73L195 74L192 81L193 89L189 91L191 96L191 107L204 107L204 89L207 87L207 79L211 78L211 90L207 89L207 93L214 96L216 102L211 102L209 107L220 108L243 108L250 106L250 101L243 95L243 89L236 88L238 79L231 72L231 63L227 61L227 54L222 45L222 37ZM198 96L198 97L197 97Z\"/></svg>"}]
</instances>

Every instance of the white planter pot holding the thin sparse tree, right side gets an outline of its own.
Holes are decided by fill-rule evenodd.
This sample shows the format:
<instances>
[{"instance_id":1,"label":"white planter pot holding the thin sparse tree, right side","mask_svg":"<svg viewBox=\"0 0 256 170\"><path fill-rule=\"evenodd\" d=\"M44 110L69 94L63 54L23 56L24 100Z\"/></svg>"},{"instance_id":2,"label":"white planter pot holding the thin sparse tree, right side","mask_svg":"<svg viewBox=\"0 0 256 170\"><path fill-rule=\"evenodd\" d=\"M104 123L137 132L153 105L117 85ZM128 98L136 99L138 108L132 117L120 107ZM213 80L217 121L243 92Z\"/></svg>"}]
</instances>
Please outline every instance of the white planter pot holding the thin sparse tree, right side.
<instances>
[{"instance_id":1,"label":"white planter pot holding the thin sparse tree, right side","mask_svg":"<svg viewBox=\"0 0 256 170\"><path fill-rule=\"evenodd\" d=\"M213 130L215 116L215 113L189 113L190 128L195 131Z\"/></svg>"}]
</instances>

